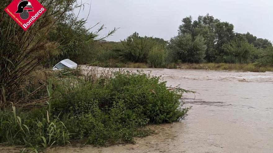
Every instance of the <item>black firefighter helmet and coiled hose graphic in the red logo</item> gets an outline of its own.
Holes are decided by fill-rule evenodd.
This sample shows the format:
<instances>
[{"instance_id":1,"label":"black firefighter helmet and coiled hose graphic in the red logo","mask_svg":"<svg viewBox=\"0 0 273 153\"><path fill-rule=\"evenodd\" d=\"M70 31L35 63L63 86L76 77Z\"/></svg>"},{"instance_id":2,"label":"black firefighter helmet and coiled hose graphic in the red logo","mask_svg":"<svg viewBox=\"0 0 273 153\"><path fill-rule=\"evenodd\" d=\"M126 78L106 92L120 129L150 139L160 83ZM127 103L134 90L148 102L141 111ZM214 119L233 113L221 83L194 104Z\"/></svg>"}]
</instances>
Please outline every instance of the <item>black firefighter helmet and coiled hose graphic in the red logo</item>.
<instances>
[{"instance_id":1,"label":"black firefighter helmet and coiled hose graphic in the red logo","mask_svg":"<svg viewBox=\"0 0 273 153\"><path fill-rule=\"evenodd\" d=\"M21 19L28 19L29 18L29 13L28 12L33 12L34 10L30 9L33 8L31 3L28 0L21 0L18 3L18 9L15 13L20 13Z\"/></svg>"}]
</instances>

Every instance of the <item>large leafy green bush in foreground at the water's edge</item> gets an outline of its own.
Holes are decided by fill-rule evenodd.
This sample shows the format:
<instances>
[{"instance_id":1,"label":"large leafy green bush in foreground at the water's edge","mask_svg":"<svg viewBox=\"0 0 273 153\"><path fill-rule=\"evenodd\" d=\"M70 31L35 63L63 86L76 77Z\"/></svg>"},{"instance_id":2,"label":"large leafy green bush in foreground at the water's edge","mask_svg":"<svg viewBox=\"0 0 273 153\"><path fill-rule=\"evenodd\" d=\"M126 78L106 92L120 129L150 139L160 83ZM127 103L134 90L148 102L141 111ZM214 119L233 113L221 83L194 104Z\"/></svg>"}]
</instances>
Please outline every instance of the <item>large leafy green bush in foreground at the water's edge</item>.
<instances>
[{"instance_id":1,"label":"large leafy green bush in foreground at the water's edge","mask_svg":"<svg viewBox=\"0 0 273 153\"><path fill-rule=\"evenodd\" d=\"M171 123L185 115L181 89L170 90L166 82L142 72L116 72L83 80L67 78L55 83L51 108L60 116L72 139L88 138L87 143L112 145L134 143L133 137L147 133L148 124Z\"/></svg>"}]
</instances>

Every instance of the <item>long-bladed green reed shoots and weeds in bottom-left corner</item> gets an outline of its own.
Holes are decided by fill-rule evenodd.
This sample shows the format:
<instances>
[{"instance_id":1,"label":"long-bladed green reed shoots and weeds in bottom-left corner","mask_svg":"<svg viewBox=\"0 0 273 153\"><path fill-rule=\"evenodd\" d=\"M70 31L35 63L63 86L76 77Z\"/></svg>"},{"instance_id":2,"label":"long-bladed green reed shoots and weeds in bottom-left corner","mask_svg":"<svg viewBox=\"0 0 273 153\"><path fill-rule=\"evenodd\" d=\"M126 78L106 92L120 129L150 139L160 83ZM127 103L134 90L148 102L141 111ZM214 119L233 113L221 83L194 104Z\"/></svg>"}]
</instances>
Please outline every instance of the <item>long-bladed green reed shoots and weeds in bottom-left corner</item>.
<instances>
[{"instance_id":1,"label":"long-bladed green reed shoots and weeds in bottom-left corner","mask_svg":"<svg viewBox=\"0 0 273 153\"><path fill-rule=\"evenodd\" d=\"M25 150L36 150L53 145L70 143L66 127L58 117L51 119L48 111L35 109L30 112L20 111L17 116L16 108L0 111L0 142L7 145L24 145Z\"/></svg>"}]
</instances>

